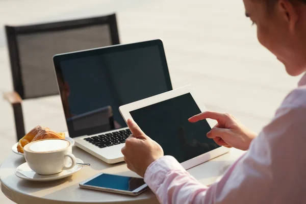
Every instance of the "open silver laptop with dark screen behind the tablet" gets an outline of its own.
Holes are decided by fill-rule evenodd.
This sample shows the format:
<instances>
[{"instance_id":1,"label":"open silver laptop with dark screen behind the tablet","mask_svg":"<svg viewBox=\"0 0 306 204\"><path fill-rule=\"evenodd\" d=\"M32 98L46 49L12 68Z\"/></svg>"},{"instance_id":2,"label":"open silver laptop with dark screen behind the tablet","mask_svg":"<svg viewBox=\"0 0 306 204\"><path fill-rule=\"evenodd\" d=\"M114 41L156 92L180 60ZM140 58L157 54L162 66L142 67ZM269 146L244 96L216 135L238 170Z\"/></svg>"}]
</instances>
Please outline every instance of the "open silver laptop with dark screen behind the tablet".
<instances>
[{"instance_id":1,"label":"open silver laptop with dark screen behind the tablet","mask_svg":"<svg viewBox=\"0 0 306 204\"><path fill-rule=\"evenodd\" d=\"M69 136L114 164L131 135L119 107L172 90L161 40L65 53L53 58Z\"/></svg>"}]
</instances>

